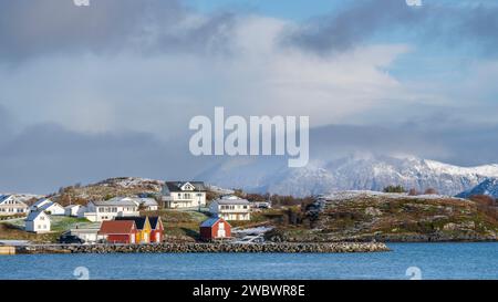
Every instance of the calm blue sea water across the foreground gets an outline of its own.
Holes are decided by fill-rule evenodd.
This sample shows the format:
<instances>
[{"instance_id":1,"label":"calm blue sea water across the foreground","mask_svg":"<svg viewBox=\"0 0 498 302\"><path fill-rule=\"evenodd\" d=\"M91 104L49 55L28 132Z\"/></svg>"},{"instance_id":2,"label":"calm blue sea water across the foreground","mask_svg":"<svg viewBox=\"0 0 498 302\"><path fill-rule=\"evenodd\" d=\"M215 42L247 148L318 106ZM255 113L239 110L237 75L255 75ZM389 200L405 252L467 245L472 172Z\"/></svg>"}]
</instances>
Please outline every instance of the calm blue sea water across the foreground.
<instances>
[{"instance_id":1,"label":"calm blue sea water across the foreground","mask_svg":"<svg viewBox=\"0 0 498 302\"><path fill-rule=\"evenodd\" d=\"M0 279L76 279L79 267L90 279L409 279L411 267L422 279L498 279L498 243L388 246L376 253L3 256Z\"/></svg>"}]
</instances>

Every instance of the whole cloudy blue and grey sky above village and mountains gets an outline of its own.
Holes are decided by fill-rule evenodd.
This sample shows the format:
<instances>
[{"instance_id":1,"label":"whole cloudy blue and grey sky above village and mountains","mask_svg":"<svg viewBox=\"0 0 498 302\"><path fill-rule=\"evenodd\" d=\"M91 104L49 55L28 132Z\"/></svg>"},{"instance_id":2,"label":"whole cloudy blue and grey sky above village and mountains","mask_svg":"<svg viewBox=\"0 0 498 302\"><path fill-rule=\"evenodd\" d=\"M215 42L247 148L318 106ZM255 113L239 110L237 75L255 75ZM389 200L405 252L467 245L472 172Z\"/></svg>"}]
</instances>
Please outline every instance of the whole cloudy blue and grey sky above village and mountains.
<instances>
[{"instance_id":1,"label":"whole cloudy blue and grey sky above village and mountains","mask_svg":"<svg viewBox=\"0 0 498 302\"><path fill-rule=\"evenodd\" d=\"M189 154L188 123L215 106L309 116L313 156L498 163L497 15L491 0L0 0L0 191L194 178L215 160Z\"/></svg>"}]
</instances>

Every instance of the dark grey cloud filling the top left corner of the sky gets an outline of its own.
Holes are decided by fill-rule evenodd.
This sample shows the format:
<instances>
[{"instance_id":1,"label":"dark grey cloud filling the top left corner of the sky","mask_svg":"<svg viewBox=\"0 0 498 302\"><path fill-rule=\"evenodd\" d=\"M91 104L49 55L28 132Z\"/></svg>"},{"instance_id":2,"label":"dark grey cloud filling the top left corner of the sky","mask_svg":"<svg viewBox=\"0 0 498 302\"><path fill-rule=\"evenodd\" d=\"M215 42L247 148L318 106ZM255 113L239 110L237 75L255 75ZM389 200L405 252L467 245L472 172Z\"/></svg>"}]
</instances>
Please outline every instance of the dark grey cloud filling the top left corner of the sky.
<instances>
[{"instance_id":1,"label":"dark grey cloud filling the top left corner of the sky","mask_svg":"<svg viewBox=\"0 0 498 302\"><path fill-rule=\"evenodd\" d=\"M235 18L203 15L178 0L0 0L0 56L68 52L206 52L222 49Z\"/></svg>"}]
</instances>

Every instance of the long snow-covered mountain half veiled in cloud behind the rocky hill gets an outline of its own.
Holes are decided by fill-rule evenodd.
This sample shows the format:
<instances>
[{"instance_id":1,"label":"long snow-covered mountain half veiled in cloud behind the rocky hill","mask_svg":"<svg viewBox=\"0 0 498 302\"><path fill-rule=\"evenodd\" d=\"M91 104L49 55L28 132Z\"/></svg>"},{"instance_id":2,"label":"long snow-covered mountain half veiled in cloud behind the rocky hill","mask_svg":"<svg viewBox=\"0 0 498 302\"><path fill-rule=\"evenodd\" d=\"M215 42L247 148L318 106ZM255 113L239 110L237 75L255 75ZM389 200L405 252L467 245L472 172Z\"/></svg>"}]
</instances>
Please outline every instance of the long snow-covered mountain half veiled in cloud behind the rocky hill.
<instances>
[{"instance_id":1,"label":"long snow-covered mountain half veiled in cloud behind the rocky hill","mask_svg":"<svg viewBox=\"0 0 498 302\"><path fill-rule=\"evenodd\" d=\"M456 195L488 177L498 177L498 165L458 167L416 157L349 156L288 168L286 160L228 160L200 177L222 187L249 191L307 196L334 190L382 190L388 185Z\"/></svg>"}]
</instances>

